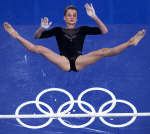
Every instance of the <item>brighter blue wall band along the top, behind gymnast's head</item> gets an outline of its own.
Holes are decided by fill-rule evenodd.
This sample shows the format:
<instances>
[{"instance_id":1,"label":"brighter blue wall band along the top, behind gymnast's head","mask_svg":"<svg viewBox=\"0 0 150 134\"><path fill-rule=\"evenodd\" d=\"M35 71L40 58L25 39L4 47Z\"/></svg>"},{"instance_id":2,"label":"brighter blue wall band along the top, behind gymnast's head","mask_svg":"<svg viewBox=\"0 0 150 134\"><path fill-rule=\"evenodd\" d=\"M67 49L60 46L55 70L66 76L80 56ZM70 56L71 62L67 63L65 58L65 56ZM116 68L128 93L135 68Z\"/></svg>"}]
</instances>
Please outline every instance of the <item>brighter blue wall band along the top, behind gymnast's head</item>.
<instances>
[{"instance_id":1,"label":"brighter blue wall band along the top, behind gymnast's head","mask_svg":"<svg viewBox=\"0 0 150 134\"><path fill-rule=\"evenodd\" d=\"M0 4L0 22L39 24L49 16L54 23L63 23L64 8L70 4L79 9L80 24L89 21L84 4L93 3L97 14L106 24L149 24L149 0L3 0Z\"/></svg>"}]
</instances>

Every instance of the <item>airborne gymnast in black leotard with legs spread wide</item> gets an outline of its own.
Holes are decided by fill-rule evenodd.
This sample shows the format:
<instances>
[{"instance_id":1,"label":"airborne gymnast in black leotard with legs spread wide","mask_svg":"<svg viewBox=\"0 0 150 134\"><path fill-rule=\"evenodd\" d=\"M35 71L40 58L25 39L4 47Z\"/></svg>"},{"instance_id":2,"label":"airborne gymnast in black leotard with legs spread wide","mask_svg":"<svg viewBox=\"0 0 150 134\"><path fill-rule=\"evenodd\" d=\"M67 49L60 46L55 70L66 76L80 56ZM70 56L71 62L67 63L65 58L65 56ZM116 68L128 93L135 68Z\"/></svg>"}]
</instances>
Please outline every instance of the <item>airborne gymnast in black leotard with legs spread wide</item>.
<instances>
[{"instance_id":1,"label":"airborne gymnast in black leotard with legs spread wide","mask_svg":"<svg viewBox=\"0 0 150 134\"><path fill-rule=\"evenodd\" d=\"M102 48L88 54L82 55L83 43L86 35L106 34L108 32L105 24L98 18L92 4L85 4L87 15L90 16L98 27L81 26L75 28L77 22L77 9L74 6L68 6L64 11L64 21L66 28L54 27L50 30L51 22L45 17L41 20L40 28L35 32L35 38L47 38L56 36L60 54L57 54L41 45L35 45L24 39L7 22L4 23L5 30L15 39L17 39L30 52L43 55L50 62L57 65L63 71L80 71L88 65L94 64L104 57L114 56L130 46L136 46L144 37L145 30L139 31L127 42L113 48Z\"/></svg>"}]
</instances>

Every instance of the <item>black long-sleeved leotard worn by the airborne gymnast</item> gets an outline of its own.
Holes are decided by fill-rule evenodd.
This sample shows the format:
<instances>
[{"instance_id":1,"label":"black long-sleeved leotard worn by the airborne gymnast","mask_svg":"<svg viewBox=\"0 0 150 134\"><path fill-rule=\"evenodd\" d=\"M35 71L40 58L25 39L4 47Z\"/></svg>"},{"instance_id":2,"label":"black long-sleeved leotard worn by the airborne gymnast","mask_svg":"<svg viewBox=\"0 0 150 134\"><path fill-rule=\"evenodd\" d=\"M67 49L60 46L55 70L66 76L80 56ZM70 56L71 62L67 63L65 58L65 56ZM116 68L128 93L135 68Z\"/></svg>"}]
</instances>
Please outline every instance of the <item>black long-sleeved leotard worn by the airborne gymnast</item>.
<instances>
[{"instance_id":1,"label":"black long-sleeved leotard worn by the airborne gymnast","mask_svg":"<svg viewBox=\"0 0 150 134\"><path fill-rule=\"evenodd\" d=\"M70 62L70 71L77 71L75 61L79 55L82 55L85 36L96 34L102 34L98 27L81 26L75 29L54 27L44 31L40 38L56 36L60 55L68 58Z\"/></svg>"}]
</instances>

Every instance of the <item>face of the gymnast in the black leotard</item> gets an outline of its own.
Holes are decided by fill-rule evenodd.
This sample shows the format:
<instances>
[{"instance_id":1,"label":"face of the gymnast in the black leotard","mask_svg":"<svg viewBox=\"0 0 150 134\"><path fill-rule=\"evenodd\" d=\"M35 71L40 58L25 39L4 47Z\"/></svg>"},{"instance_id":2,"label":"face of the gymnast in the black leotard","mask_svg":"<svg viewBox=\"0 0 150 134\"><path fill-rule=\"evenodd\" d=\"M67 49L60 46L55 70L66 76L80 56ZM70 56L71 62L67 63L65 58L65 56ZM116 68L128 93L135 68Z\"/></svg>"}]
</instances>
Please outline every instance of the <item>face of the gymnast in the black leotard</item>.
<instances>
[{"instance_id":1,"label":"face of the gymnast in the black leotard","mask_svg":"<svg viewBox=\"0 0 150 134\"><path fill-rule=\"evenodd\" d=\"M77 11L74 9L68 9L64 16L64 20L67 25L75 25L77 22Z\"/></svg>"}]
</instances>

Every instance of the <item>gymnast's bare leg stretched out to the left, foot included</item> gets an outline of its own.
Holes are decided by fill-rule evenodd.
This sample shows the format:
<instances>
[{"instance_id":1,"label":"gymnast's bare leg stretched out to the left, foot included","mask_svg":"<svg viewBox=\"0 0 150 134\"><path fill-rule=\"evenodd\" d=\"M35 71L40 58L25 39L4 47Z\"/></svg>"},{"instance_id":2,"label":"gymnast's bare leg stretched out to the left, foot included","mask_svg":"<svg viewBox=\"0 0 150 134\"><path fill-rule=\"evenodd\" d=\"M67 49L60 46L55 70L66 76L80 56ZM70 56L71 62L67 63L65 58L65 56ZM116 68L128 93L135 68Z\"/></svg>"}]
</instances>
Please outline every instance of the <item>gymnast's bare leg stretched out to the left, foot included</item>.
<instances>
[{"instance_id":1,"label":"gymnast's bare leg stretched out to the left, foot included","mask_svg":"<svg viewBox=\"0 0 150 134\"><path fill-rule=\"evenodd\" d=\"M57 65L59 68L61 68L64 71L69 71L70 70L70 63L67 58L64 56L60 56L53 52L52 50L40 46L40 45L34 45L28 40L24 39L21 37L15 29L8 24L7 22L4 23L4 28L5 30L13 37L16 38L25 48L27 48L30 52L41 54L44 57L46 57L50 62L53 64Z\"/></svg>"}]
</instances>

